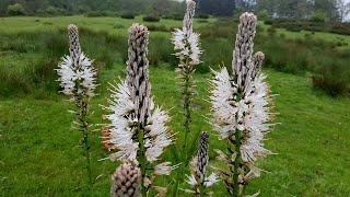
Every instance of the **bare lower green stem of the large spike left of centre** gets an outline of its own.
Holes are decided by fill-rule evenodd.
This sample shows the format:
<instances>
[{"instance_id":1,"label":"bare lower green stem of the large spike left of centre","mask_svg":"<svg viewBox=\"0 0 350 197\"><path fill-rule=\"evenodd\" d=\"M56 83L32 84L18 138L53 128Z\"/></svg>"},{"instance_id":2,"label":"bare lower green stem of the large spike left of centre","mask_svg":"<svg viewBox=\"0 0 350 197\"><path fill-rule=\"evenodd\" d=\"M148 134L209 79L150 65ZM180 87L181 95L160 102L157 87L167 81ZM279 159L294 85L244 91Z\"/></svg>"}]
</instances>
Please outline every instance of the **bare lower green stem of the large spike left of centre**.
<instances>
[{"instance_id":1,"label":"bare lower green stem of the large spike left of centre","mask_svg":"<svg viewBox=\"0 0 350 197\"><path fill-rule=\"evenodd\" d=\"M139 161L141 165L141 175L142 175L142 181L141 181L141 194L143 197L147 196L147 188L144 186L144 177L147 176L145 170L147 170L147 159L145 159L145 148L144 148L144 130L141 128L141 124L138 124L138 138L139 138L139 143L140 143L140 152L139 152Z\"/></svg>"}]
</instances>

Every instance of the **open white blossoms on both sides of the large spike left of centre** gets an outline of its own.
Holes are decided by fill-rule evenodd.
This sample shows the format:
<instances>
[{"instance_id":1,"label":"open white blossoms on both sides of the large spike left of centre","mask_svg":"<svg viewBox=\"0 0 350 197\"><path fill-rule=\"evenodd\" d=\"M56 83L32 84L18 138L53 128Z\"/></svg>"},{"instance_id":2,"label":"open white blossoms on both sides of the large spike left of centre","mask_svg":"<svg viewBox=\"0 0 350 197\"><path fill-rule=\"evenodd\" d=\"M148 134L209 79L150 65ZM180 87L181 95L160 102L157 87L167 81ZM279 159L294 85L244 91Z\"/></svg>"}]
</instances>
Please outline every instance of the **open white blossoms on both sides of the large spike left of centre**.
<instances>
[{"instance_id":1,"label":"open white blossoms on both sides of the large spike left of centre","mask_svg":"<svg viewBox=\"0 0 350 197\"><path fill-rule=\"evenodd\" d=\"M135 104L130 96L130 91L127 82L118 83L112 86L109 106L104 106L113 114L104 117L110 121L108 124L108 144L113 144L109 149L117 150L109 155L110 160L128 161L136 160L139 150L139 141L136 139L138 118L135 115ZM164 149L173 143L173 136L170 132L170 127L166 123L171 117L167 112L161 107L154 107L154 103L150 101L151 116L148 117L144 126L144 147L148 162L153 163L160 160L160 155Z\"/></svg>"}]
</instances>

